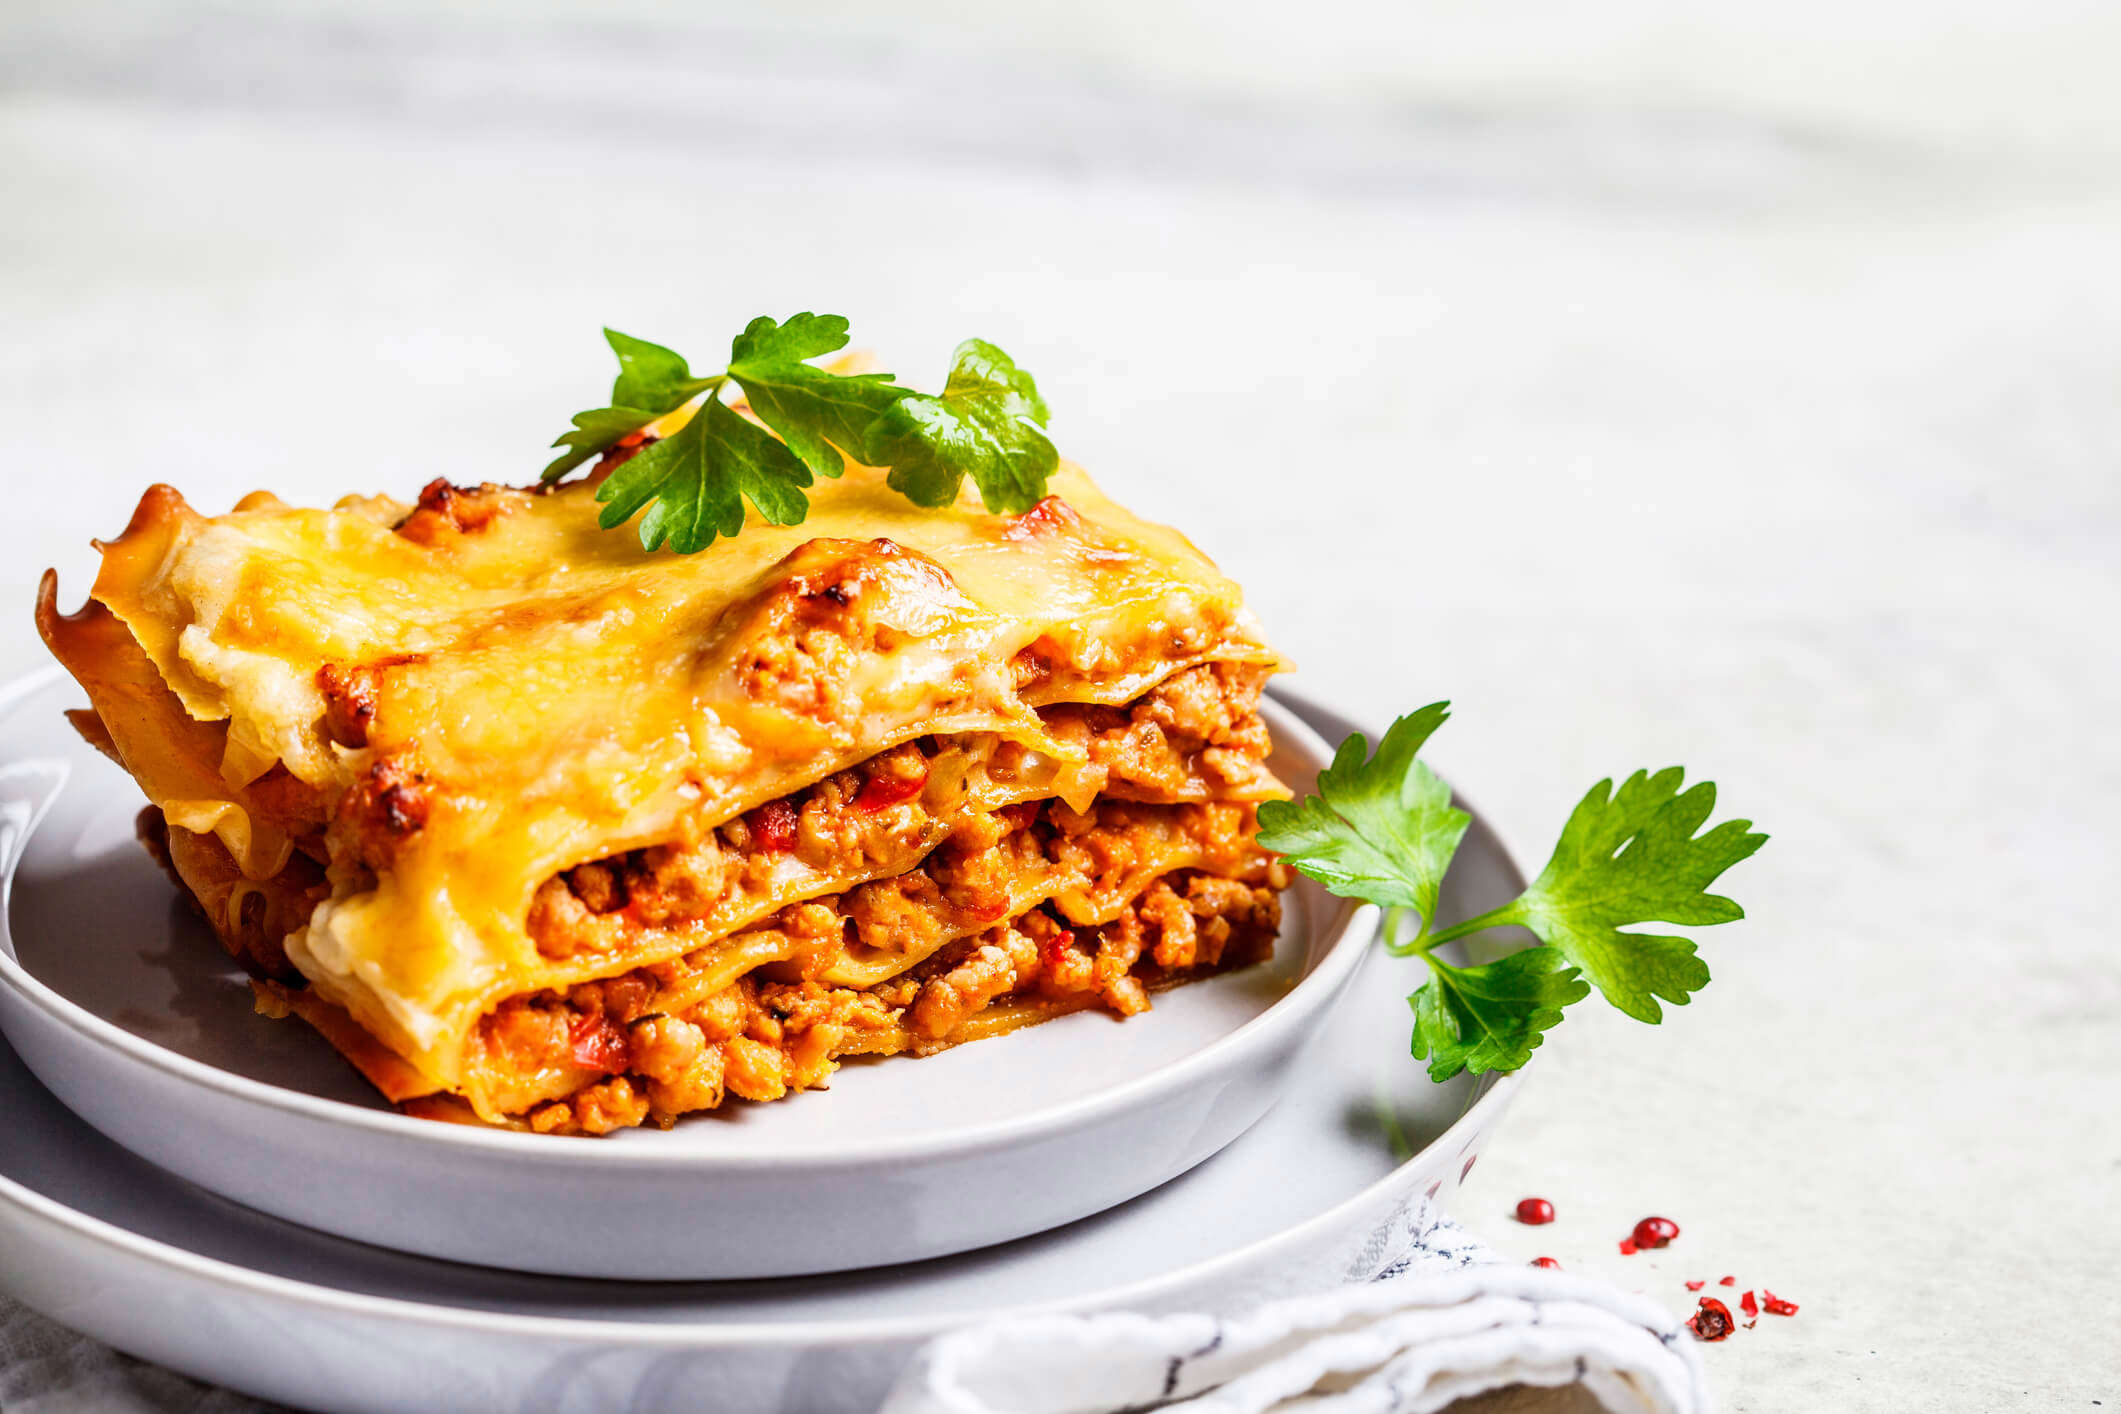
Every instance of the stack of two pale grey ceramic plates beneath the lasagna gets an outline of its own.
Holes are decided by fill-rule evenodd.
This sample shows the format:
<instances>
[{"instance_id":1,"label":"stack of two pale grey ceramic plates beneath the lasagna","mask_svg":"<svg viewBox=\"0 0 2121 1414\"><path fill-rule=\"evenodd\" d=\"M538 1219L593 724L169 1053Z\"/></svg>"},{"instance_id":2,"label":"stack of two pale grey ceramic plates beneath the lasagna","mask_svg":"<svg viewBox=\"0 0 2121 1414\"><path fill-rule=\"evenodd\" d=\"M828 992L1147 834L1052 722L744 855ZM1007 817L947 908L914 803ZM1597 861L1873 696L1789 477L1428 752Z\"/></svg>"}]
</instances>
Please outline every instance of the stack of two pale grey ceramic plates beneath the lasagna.
<instances>
[{"instance_id":1,"label":"stack of two pale grey ceramic plates beneath the lasagna","mask_svg":"<svg viewBox=\"0 0 2121 1414\"><path fill-rule=\"evenodd\" d=\"M1336 1280L1472 1168L1510 1079L1430 1085L1374 909L1309 882L1275 960L670 1132L390 1113L132 839L53 676L0 695L0 1289L316 1410L872 1410L971 1319L1232 1308ZM1309 789L1351 725L1270 704ZM1444 912L1521 878L1474 825Z\"/></svg>"}]
</instances>

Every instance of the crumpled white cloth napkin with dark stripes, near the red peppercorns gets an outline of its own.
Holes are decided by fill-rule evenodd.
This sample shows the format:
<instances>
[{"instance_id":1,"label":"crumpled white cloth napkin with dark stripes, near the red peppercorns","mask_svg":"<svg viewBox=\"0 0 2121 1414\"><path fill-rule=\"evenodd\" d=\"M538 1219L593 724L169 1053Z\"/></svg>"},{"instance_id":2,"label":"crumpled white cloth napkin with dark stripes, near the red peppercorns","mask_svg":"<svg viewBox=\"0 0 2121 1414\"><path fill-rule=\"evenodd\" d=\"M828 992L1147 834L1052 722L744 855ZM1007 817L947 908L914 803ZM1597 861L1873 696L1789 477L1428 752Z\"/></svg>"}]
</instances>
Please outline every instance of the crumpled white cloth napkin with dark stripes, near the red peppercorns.
<instances>
[{"instance_id":1,"label":"crumpled white cloth napkin with dark stripes, near the red peppercorns","mask_svg":"<svg viewBox=\"0 0 2121 1414\"><path fill-rule=\"evenodd\" d=\"M1705 1414L1701 1357L1654 1302L1497 1259L1427 1202L1334 1291L1241 1314L993 1321L927 1346L882 1414L1430 1414L1510 1386Z\"/></svg>"}]
</instances>

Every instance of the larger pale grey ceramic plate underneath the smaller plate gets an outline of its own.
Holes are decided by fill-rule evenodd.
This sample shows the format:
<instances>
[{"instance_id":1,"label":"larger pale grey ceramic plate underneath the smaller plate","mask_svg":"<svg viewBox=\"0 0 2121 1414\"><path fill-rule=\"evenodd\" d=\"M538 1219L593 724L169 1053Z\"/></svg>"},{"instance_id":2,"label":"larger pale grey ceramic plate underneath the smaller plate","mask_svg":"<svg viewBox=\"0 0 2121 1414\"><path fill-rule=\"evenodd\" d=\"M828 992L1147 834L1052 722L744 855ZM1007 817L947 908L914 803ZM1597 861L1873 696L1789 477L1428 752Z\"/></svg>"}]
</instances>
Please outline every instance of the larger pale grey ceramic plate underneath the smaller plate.
<instances>
[{"instance_id":1,"label":"larger pale grey ceramic plate underneath the smaller plate","mask_svg":"<svg viewBox=\"0 0 2121 1414\"><path fill-rule=\"evenodd\" d=\"M1440 916L1521 886L1476 820ZM942 1261L753 1283L522 1276L305 1232L119 1149L0 1047L0 1289L316 1410L874 1410L910 1348L967 1319L1237 1310L1338 1280L1415 1194L1449 1200L1517 1077L1432 1085L1406 1056L1410 986L1370 950L1287 1100L1133 1202Z\"/></svg>"}]
</instances>

